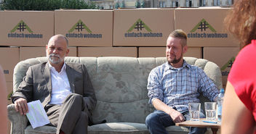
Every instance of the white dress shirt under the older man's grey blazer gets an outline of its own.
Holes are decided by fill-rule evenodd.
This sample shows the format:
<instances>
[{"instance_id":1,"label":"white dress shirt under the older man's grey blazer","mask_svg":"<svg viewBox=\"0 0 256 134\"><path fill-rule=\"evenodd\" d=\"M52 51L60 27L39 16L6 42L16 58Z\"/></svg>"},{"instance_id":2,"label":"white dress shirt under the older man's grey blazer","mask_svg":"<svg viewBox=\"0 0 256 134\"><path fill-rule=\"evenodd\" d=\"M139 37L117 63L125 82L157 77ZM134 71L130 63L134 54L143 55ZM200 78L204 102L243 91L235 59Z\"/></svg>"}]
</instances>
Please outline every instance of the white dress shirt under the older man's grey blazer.
<instances>
[{"instance_id":1,"label":"white dress shirt under the older man's grey blazer","mask_svg":"<svg viewBox=\"0 0 256 134\"><path fill-rule=\"evenodd\" d=\"M69 85L68 76L65 72L66 66L64 63L60 72L57 72L51 64L49 64L49 68L52 78L52 99L49 104L61 105L68 94L71 93L71 86Z\"/></svg>"}]
</instances>

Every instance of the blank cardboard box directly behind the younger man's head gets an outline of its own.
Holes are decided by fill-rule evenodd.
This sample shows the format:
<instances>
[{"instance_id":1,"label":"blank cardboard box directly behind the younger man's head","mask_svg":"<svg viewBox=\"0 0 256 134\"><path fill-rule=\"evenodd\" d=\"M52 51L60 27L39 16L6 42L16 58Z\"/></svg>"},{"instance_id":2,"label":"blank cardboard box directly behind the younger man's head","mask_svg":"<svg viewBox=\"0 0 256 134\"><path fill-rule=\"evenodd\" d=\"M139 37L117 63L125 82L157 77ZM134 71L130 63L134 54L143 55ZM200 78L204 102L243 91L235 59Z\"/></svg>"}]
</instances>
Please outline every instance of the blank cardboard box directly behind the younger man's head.
<instances>
[{"instance_id":1,"label":"blank cardboard box directly behind the younger man's head","mask_svg":"<svg viewBox=\"0 0 256 134\"><path fill-rule=\"evenodd\" d=\"M166 47L140 47L139 57L161 57L165 56ZM184 56L193 56L196 58L202 58L201 47L188 47L188 51Z\"/></svg>"}]
</instances>

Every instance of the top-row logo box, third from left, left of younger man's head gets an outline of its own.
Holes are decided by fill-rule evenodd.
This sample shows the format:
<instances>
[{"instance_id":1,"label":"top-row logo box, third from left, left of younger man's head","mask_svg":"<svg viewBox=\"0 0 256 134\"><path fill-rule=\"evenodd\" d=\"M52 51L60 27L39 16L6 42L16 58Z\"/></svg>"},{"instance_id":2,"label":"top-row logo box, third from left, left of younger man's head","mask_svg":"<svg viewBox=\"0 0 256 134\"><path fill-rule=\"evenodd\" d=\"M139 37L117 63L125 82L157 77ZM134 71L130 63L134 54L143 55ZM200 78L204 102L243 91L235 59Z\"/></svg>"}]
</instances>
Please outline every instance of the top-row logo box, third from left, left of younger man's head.
<instances>
[{"instance_id":1,"label":"top-row logo box, third from left, left of younger man's head","mask_svg":"<svg viewBox=\"0 0 256 134\"><path fill-rule=\"evenodd\" d=\"M174 30L174 9L116 9L113 46L165 46Z\"/></svg>"}]
</instances>

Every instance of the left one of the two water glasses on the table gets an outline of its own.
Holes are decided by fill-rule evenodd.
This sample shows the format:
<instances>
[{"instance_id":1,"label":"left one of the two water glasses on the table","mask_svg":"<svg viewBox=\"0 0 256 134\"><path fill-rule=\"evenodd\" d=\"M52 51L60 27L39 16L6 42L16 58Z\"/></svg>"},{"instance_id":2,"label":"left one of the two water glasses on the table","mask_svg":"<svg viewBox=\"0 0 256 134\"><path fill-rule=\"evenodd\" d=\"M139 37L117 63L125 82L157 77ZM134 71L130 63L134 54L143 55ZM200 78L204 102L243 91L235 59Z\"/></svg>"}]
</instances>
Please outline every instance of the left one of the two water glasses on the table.
<instances>
[{"instance_id":1,"label":"left one of the two water glasses on the table","mask_svg":"<svg viewBox=\"0 0 256 134\"><path fill-rule=\"evenodd\" d=\"M200 103L189 103L188 104L188 111L191 117L191 121L199 121L200 120Z\"/></svg>"}]
</instances>

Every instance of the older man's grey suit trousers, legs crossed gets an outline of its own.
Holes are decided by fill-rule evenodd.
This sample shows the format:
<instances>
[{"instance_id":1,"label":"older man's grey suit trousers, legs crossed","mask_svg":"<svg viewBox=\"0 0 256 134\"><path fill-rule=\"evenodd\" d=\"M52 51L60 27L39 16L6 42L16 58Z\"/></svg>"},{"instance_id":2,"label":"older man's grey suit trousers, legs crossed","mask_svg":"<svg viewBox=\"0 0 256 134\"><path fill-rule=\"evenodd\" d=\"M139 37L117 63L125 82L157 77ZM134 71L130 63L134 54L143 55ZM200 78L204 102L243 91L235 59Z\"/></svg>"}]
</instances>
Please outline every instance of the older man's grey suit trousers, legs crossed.
<instances>
[{"instance_id":1,"label":"older man's grey suit trousers, legs crossed","mask_svg":"<svg viewBox=\"0 0 256 134\"><path fill-rule=\"evenodd\" d=\"M87 134L88 114L83 96L71 93L62 105L47 104L44 107L51 125L57 127L57 134Z\"/></svg>"}]
</instances>

